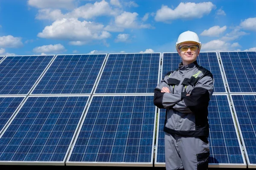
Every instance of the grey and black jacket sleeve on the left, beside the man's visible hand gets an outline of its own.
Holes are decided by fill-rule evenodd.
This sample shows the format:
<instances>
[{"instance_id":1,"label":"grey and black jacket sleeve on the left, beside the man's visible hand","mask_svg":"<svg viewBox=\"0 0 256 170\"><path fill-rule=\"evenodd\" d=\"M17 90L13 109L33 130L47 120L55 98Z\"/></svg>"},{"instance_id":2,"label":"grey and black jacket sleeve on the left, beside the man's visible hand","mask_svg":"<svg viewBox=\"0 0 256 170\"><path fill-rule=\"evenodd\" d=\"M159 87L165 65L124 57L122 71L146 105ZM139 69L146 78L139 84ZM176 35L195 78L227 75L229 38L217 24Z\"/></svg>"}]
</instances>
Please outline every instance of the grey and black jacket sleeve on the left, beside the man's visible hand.
<instances>
[{"instance_id":1,"label":"grey and black jacket sleeve on the left, beside the man's visible hand","mask_svg":"<svg viewBox=\"0 0 256 170\"><path fill-rule=\"evenodd\" d=\"M170 93L162 93L161 89L168 87ZM177 102L181 101L181 94L172 94L172 90L168 85L168 76L166 76L154 89L154 105L157 108L172 108Z\"/></svg>"}]
</instances>

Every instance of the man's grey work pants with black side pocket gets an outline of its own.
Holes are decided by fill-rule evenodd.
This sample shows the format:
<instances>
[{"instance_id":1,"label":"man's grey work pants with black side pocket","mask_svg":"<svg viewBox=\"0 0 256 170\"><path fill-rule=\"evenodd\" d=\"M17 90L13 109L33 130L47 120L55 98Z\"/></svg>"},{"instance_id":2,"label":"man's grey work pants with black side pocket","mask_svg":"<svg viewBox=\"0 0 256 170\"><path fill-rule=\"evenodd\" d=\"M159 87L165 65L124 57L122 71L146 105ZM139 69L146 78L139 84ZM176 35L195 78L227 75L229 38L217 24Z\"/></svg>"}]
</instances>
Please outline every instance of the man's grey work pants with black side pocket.
<instances>
[{"instance_id":1,"label":"man's grey work pants with black side pocket","mask_svg":"<svg viewBox=\"0 0 256 170\"><path fill-rule=\"evenodd\" d=\"M165 133L166 170L207 170L209 142Z\"/></svg>"}]
</instances>

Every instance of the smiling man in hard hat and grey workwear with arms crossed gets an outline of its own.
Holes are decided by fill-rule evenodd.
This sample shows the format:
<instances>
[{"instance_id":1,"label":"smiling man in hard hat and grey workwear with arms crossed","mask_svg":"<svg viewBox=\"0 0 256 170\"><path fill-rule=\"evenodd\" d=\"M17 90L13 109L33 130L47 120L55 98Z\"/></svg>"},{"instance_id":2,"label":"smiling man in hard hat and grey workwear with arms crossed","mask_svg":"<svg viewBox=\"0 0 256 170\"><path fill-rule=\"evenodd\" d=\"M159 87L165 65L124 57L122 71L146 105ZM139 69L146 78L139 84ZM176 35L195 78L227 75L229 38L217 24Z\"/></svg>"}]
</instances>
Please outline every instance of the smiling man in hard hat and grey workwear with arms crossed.
<instances>
[{"instance_id":1,"label":"smiling man in hard hat and grey workwear with arms crossed","mask_svg":"<svg viewBox=\"0 0 256 170\"><path fill-rule=\"evenodd\" d=\"M154 105L166 108L166 170L207 170L207 116L214 80L196 61L201 42L195 32L180 34L176 49L182 62L154 90Z\"/></svg>"}]
</instances>

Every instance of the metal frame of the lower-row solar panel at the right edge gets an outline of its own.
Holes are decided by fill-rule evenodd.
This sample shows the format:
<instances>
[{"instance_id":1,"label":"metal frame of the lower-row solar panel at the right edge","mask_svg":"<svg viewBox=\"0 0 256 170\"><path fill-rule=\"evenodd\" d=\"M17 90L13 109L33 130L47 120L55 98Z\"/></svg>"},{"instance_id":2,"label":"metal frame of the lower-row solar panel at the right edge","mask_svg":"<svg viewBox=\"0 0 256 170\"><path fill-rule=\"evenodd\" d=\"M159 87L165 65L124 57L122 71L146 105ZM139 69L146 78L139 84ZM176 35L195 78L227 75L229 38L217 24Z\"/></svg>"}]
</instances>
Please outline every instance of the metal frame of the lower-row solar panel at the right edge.
<instances>
[{"instance_id":1,"label":"metal frame of the lower-row solar panel at the right edge","mask_svg":"<svg viewBox=\"0 0 256 170\"><path fill-rule=\"evenodd\" d=\"M247 147L244 143L244 139L243 139L243 133L241 131L241 125L239 124L239 120L238 120L238 116L237 116L237 113L236 113L236 108L235 108L235 105L233 103L233 99L232 99L232 96L247 96L247 95L256 95L256 93L250 93L250 94L244 94L244 93L232 93L230 94L230 98L231 98L231 102L232 102L232 105L233 105L233 111L234 111L234 114L236 115L236 122L237 122L237 126L238 126L238 130L239 130L239 133L240 133L240 137L241 137L241 142L243 144L243 147L244 147L244 154L245 154L245 157L246 157L246 160L247 160L247 165L248 165L248 168L256 168L256 164L252 164L250 163L250 159L248 158L248 154L247 154ZM256 147L256 146L255 146Z\"/></svg>"}]
</instances>

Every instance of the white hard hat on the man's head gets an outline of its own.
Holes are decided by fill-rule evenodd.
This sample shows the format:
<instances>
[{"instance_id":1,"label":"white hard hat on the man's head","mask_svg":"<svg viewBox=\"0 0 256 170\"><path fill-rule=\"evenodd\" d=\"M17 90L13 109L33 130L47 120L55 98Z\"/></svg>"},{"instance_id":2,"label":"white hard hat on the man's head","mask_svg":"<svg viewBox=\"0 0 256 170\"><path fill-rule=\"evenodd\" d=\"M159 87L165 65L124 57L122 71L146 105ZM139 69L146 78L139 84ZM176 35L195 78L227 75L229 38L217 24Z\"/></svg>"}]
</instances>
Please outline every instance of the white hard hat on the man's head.
<instances>
[{"instance_id":1,"label":"white hard hat on the man's head","mask_svg":"<svg viewBox=\"0 0 256 170\"><path fill-rule=\"evenodd\" d=\"M199 46L199 50L201 49L201 42L199 41L199 37L195 32L192 31L185 31L179 35L176 42L177 51L181 43L196 43Z\"/></svg>"}]
</instances>

